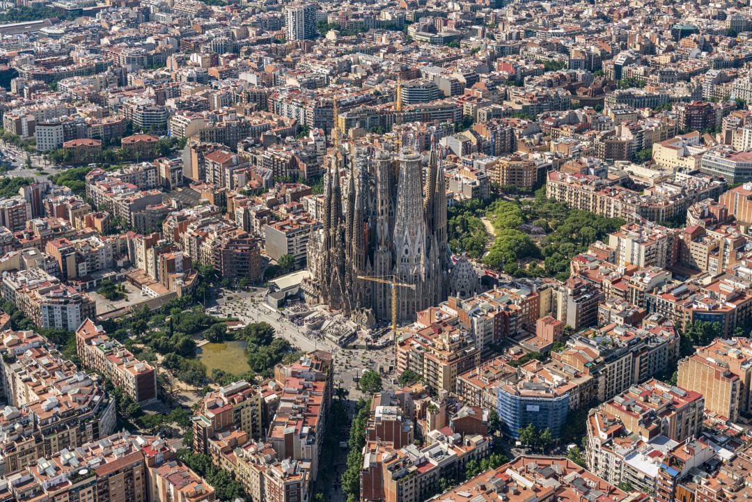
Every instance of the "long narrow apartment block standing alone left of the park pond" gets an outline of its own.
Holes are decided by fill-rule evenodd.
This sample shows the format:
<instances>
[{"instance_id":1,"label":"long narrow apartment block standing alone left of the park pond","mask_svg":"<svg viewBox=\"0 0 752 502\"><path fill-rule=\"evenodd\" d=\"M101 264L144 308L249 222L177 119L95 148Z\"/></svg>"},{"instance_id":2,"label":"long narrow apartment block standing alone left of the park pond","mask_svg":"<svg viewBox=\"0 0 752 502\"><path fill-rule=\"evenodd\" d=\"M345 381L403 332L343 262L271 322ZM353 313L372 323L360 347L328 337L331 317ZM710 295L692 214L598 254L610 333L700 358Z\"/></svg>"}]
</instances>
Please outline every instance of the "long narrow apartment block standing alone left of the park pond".
<instances>
[{"instance_id":1,"label":"long narrow apartment block standing alone left of the park pond","mask_svg":"<svg viewBox=\"0 0 752 502\"><path fill-rule=\"evenodd\" d=\"M84 367L105 375L137 403L156 399L156 371L151 364L136 359L92 319L76 330L76 353Z\"/></svg>"}]
</instances>

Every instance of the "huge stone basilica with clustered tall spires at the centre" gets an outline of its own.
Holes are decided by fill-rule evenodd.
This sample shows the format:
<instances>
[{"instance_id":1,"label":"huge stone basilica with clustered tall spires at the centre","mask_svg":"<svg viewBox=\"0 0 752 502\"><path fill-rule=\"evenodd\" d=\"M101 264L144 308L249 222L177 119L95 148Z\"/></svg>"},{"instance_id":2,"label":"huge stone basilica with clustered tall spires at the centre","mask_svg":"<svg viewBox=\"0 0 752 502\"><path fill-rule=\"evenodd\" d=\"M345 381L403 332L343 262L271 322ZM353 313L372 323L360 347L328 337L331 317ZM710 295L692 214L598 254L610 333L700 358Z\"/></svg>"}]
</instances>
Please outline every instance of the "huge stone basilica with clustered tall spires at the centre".
<instances>
[{"instance_id":1,"label":"huge stone basilica with clustered tall spires at the centre","mask_svg":"<svg viewBox=\"0 0 752 502\"><path fill-rule=\"evenodd\" d=\"M450 292L465 292L469 264L460 259L462 265L453 266L450 259L438 150L432 148L424 167L423 156L411 147L396 152L351 143L345 149L336 140L325 175L323 225L308 241L308 301L367 324L384 321L391 318L390 286L359 277L395 277L414 286L398 291L402 323ZM452 268L461 274L453 277Z\"/></svg>"}]
</instances>

